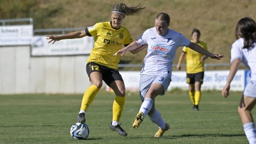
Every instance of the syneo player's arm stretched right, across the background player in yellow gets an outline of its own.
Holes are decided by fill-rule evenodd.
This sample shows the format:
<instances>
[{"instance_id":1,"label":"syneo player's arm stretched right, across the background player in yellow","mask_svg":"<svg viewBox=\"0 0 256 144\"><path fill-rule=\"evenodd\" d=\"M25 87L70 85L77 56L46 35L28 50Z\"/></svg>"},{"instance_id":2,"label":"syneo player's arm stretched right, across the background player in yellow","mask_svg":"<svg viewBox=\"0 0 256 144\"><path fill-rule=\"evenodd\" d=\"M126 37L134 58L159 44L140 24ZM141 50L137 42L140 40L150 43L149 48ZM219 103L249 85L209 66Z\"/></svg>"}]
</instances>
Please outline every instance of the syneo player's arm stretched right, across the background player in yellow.
<instances>
[{"instance_id":1,"label":"syneo player's arm stretched right, across the background player in yellow","mask_svg":"<svg viewBox=\"0 0 256 144\"><path fill-rule=\"evenodd\" d=\"M199 52L201 54L204 54L205 56L209 56L210 58L213 58L213 59L217 59L217 60L220 60L221 58L224 57L224 54L212 54L211 52L209 51L206 51L204 48L200 47L198 44L195 44L193 42L191 42L188 47L190 49L193 49L194 51L196 52Z\"/></svg>"}]
</instances>

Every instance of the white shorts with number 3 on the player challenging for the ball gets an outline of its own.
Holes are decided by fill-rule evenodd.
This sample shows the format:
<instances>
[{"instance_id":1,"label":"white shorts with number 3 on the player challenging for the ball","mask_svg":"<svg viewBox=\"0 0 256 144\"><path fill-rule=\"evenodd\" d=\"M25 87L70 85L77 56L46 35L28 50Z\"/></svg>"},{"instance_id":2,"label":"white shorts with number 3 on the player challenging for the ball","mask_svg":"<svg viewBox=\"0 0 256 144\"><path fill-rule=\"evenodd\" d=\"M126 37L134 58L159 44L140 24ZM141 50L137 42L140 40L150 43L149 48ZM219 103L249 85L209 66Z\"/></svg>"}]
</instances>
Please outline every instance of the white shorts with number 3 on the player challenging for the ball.
<instances>
[{"instance_id":1,"label":"white shorts with number 3 on the player challenging for the ball","mask_svg":"<svg viewBox=\"0 0 256 144\"><path fill-rule=\"evenodd\" d=\"M140 86L139 86L140 99L141 100L145 99L145 96L150 86L154 83L161 83L164 86L164 91L159 94L159 95L164 95L171 81L172 81L171 76L154 76L154 75L142 74L140 76Z\"/></svg>"}]
</instances>

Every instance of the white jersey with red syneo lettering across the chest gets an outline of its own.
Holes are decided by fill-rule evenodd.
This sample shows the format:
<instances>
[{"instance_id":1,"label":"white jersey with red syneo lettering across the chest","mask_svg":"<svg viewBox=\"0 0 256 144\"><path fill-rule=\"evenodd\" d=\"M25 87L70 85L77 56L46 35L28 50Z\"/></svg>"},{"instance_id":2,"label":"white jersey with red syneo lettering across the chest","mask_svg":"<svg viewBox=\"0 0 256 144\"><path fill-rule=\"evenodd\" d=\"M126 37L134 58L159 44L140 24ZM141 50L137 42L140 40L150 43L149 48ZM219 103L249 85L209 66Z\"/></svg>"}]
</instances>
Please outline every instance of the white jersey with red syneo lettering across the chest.
<instances>
[{"instance_id":1,"label":"white jersey with red syneo lettering across the chest","mask_svg":"<svg viewBox=\"0 0 256 144\"><path fill-rule=\"evenodd\" d=\"M188 47L190 44L190 40L181 33L168 29L168 33L161 36L156 28L147 29L138 37L137 42L141 45L148 44L141 74L163 76L172 76L172 64L177 48Z\"/></svg>"}]
</instances>

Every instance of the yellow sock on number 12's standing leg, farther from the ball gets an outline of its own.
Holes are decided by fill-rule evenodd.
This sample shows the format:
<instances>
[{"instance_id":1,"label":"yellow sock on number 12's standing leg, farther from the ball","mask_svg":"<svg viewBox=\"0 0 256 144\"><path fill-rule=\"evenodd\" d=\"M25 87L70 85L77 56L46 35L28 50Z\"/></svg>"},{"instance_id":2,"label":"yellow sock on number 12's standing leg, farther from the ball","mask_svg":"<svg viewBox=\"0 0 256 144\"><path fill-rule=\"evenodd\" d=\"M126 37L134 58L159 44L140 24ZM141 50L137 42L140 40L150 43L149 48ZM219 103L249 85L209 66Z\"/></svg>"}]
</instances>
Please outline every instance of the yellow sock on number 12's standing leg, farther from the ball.
<instances>
[{"instance_id":1,"label":"yellow sock on number 12's standing leg, farther from the ball","mask_svg":"<svg viewBox=\"0 0 256 144\"><path fill-rule=\"evenodd\" d=\"M119 122L124 109L125 97L119 97L116 95L115 101L113 103L113 120Z\"/></svg>"}]
</instances>

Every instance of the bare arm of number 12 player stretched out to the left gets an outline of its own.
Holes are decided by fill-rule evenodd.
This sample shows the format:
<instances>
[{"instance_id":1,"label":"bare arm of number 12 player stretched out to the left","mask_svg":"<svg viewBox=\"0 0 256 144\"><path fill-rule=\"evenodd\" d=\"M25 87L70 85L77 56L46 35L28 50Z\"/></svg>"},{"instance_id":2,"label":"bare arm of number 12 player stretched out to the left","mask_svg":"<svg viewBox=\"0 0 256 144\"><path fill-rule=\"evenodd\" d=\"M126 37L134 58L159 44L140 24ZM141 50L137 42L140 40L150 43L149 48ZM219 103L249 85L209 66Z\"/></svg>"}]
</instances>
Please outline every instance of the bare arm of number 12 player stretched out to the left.
<instances>
[{"instance_id":1,"label":"bare arm of number 12 player stretched out to the left","mask_svg":"<svg viewBox=\"0 0 256 144\"><path fill-rule=\"evenodd\" d=\"M50 40L48 43L54 44L54 42L59 41L59 40L64 40L64 39L74 39L74 38L83 38L84 36L87 36L85 31L75 31L72 33L68 33L67 35L61 35L61 36L57 36L57 35L48 35L46 36L47 40Z\"/></svg>"}]
</instances>

